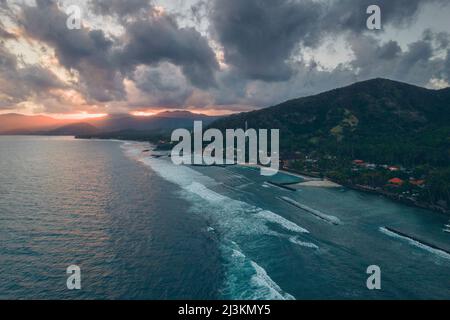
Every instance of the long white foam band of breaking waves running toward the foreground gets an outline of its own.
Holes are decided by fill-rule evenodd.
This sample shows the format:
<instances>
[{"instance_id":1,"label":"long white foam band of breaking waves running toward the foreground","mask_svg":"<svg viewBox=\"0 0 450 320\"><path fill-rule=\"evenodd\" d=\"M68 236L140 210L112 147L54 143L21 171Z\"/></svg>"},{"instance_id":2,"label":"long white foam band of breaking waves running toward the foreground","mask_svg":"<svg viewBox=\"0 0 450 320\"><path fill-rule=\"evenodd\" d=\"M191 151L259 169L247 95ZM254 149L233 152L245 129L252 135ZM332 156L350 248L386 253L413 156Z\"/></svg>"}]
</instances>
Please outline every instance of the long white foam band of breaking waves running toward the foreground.
<instances>
[{"instance_id":1,"label":"long white foam band of breaking waves running toward the foreground","mask_svg":"<svg viewBox=\"0 0 450 320\"><path fill-rule=\"evenodd\" d=\"M147 145L148 147L148 145ZM268 223L281 226L289 232L308 233L308 230L267 210L263 210L247 202L234 200L211 189L219 186L214 179L207 177L186 166L175 166L167 159L155 159L142 154L143 145L126 145L126 153L133 158L150 166L163 179L178 185L182 195L191 203L191 210L209 214L214 219L218 232L228 239L235 239L243 235L270 235L280 238L291 234L280 234L271 230ZM199 199L203 201L199 201ZM297 244L300 245L300 242ZM313 244L311 244L313 245ZM303 244L305 247L311 247ZM232 299L294 299L283 292L267 272L256 262L248 259L240 248L233 243L235 249L226 249L225 257L229 259L227 269L227 294ZM243 274L243 269L246 270Z\"/></svg>"}]
</instances>

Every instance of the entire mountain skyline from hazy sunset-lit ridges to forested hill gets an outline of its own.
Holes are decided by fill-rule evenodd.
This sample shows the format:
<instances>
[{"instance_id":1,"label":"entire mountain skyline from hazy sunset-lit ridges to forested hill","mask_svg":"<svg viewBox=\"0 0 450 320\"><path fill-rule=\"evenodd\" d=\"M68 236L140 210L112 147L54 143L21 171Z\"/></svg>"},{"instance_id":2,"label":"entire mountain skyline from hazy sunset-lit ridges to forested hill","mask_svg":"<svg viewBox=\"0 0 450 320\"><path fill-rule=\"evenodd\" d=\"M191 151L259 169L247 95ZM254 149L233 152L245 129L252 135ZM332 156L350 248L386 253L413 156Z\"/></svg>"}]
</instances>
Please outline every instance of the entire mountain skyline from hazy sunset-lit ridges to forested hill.
<instances>
[{"instance_id":1,"label":"entire mountain skyline from hazy sunset-lit ridges to forested hill","mask_svg":"<svg viewBox=\"0 0 450 320\"><path fill-rule=\"evenodd\" d=\"M0 115L0 134L139 137L191 128L194 120L218 129L276 128L282 153L315 153L377 163L450 163L450 88L429 90L374 79L274 107L228 117L188 111L150 117L109 115L83 121Z\"/></svg>"}]
</instances>

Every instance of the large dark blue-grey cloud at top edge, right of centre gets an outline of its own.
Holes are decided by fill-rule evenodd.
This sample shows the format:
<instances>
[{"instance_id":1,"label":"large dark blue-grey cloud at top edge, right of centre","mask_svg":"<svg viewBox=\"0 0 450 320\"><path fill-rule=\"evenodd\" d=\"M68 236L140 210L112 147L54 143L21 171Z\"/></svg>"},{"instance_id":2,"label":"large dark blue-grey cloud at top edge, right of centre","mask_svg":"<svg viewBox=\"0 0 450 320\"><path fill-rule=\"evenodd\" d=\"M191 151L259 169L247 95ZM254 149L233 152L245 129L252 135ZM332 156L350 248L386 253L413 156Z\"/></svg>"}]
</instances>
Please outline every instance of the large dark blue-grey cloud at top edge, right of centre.
<instances>
[{"instance_id":1,"label":"large dark blue-grey cloud at top edge, right of centre","mask_svg":"<svg viewBox=\"0 0 450 320\"><path fill-rule=\"evenodd\" d=\"M320 8L313 1L217 0L210 19L227 63L248 78L281 81L291 76L287 60L296 46L314 40Z\"/></svg>"}]
</instances>

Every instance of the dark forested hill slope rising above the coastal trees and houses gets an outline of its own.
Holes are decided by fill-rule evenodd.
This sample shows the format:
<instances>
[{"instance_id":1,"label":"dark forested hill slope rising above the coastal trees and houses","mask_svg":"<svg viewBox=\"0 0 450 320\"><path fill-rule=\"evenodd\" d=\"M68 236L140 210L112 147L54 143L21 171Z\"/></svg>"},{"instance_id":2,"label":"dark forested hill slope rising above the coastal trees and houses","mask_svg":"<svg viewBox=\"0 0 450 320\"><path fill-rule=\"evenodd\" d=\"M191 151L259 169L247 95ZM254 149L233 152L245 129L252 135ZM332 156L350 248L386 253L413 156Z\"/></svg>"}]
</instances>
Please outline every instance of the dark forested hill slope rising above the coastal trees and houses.
<instances>
[{"instance_id":1,"label":"dark forested hill slope rising above the coastal trees and houses","mask_svg":"<svg viewBox=\"0 0 450 320\"><path fill-rule=\"evenodd\" d=\"M280 129L282 153L301 151L405 166L450 164L450 89L374 79L216 121Z\"/></svg>"}]
</instances>

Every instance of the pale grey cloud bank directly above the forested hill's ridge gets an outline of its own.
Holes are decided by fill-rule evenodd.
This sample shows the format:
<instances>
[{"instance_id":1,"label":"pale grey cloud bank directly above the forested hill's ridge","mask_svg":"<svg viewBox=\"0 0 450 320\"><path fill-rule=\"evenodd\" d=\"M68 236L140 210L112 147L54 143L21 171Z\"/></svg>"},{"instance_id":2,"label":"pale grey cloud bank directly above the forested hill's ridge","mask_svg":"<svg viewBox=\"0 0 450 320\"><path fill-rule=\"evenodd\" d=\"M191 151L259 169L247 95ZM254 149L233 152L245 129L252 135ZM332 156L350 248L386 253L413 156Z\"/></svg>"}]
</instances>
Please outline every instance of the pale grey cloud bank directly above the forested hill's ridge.
<instances>
[{"instance_id":1,"label":"pale grey cloud bank directly above the forested hill's ridge","mask_svg":"<svg viewBox=\"0 0 450 320\"><path fill-rule=\"evenodd\" d=\"M219 77L216 101L264 107L377 77L420 86L430 85L432 79L448 81L449 72L445 70L450 71L450 52L443 52L446 59L435 56L447 35L426 31L421 39L402 49L396 41L382 42L370 34L352 32L346 37L354 54L348 64L323 70L314 62L297 62L292 64L292 77L284 82L251 81L229 71Z\"/></svg>"}]
</instances>

